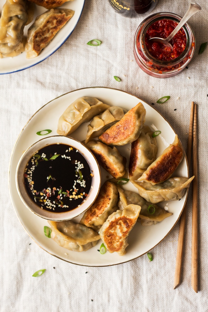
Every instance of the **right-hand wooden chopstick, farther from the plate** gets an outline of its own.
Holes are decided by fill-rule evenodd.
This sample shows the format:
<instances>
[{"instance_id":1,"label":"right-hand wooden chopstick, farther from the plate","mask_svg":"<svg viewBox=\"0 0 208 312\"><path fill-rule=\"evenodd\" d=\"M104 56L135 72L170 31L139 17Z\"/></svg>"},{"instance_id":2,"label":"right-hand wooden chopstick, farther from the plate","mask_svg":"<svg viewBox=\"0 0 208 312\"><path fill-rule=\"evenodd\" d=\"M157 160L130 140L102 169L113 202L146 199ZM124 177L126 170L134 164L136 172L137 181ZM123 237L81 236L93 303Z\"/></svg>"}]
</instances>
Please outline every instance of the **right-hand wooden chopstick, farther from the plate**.
<instances>
[{"instance_id":1,"label":"right-hand wooden chopstick, farther from the plate","mask_svg":"<svg viewBox=\"0 0 208 312\"><path fill-rule=\"evenodd\" d=\"M197 111L194 105L193 129L193 196L192 196L192 248L191 248L191 286L198 292L198 175L197 175Z\"/></svg>"}]
</instances>

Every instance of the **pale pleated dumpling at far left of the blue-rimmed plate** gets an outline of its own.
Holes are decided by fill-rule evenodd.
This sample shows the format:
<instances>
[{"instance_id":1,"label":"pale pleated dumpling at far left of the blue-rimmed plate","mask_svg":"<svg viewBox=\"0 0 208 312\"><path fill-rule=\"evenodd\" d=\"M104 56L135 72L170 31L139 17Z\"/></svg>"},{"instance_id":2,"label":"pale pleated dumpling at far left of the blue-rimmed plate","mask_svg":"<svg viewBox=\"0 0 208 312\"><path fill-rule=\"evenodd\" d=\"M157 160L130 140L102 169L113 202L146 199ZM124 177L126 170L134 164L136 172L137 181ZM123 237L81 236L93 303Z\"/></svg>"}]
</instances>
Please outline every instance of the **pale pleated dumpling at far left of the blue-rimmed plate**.
<instances>
[{"instance_id":1,"label":"pale pleated dumpling at far left of the blue-rimmed plate","mask_svg":"<svg viewBox=\"0 0 208 312\"><path fill-rule=\"evenodd\" d=\"M7 0L5 2L0 18L0 54L2 56L11 53L21 44L27 20L27 2L25 0Z\"/></svg>"}]
</instances>

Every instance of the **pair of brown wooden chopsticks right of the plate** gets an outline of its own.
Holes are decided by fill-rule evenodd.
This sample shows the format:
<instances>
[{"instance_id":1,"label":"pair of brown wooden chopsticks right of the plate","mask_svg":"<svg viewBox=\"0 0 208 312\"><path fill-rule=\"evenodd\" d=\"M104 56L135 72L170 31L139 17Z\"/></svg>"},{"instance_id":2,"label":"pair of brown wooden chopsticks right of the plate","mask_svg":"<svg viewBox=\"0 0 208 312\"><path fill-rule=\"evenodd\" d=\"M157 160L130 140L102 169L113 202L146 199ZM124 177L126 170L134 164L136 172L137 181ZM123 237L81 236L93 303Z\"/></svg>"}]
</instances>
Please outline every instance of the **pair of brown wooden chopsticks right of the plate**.
<instances>
[{"instance_id":1,"label":"pair of brown wooden chopsticks right of the plate","mask_svg":"<svg viewBox=\"0 0 208 312\"><path fill-rule=\"evenodd\" d=\"M196 104L191 103L191 116L189 124L187 161L190 166L191 147L193 141L193 195L192 195L192 248L191 248L191 286L195 292L198 292L198 176L197 176L197 111ZM181 283L181 268L183 259L184 235L186 226L186 205L183 209L180 219L180 228L178 234L178 248L176 256L176 269L174 278L174 289Z\"/></svg>"}]
</instances>

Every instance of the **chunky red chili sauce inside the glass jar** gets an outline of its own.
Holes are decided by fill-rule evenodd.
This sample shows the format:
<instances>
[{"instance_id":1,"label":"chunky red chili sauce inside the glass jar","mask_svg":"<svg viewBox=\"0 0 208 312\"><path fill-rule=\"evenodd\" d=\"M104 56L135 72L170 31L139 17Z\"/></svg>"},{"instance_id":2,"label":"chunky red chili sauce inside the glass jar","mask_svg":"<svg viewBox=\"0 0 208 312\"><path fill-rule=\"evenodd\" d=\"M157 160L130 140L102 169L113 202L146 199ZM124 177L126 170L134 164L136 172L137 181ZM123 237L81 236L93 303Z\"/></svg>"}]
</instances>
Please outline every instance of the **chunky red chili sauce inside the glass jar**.
<instances>
[{"instance_id":1,"label":"chunky red chili sauce inside the glass jar","mask_svg":"<svg viewBox=\"0 0 208 312\"><path fill-rule=\"evenodd\" d=\"M171 48L163 45L160 42L153 40L149 41L149 38L159 37L167 38L174 28L178 25L177 22L174 22L169 19L163 19L157 22L154 22L147 30L145 35L145 45L149 53L160 61L171 61L176 59L184 51L186 46L186 34L181 28L177 34L171 39L170 43L173 47Z\"/></svg>"}]
</instances>

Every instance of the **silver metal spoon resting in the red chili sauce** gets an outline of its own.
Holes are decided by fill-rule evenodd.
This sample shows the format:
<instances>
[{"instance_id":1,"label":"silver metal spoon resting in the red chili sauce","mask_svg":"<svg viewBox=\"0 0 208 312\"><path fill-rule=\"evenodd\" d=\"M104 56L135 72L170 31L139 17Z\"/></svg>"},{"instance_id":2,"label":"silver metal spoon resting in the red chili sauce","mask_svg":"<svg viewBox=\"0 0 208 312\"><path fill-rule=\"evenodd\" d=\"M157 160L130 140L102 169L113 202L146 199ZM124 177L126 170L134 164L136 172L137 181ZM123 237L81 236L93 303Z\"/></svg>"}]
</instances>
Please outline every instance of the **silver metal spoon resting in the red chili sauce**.
<instances>
[{"instance_id":1,"label":"silver metal spoon resting in the red chili sauce","mask_svg":"<svg viewBox=\"0 0 208 312\"><path fill-rule=\"evenodd\" d=\"M172 33L167 38L164 39L164 38L154 37L154 38L149 38L149 40L158 41L164 44L165 46L168 46L171 49L173 49L169 41L175 36L175 34L177 34L177 32L181 29L181 27L183 27L183 25L188 21L188 19L200 10L201 10L200 5L198 5L195 2L191 2L184 17L181 19L181 22L178 23L177 27L172 31Z\"/></svg>"}]
</instances>

